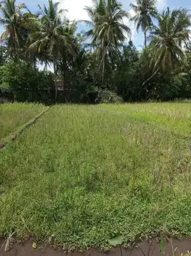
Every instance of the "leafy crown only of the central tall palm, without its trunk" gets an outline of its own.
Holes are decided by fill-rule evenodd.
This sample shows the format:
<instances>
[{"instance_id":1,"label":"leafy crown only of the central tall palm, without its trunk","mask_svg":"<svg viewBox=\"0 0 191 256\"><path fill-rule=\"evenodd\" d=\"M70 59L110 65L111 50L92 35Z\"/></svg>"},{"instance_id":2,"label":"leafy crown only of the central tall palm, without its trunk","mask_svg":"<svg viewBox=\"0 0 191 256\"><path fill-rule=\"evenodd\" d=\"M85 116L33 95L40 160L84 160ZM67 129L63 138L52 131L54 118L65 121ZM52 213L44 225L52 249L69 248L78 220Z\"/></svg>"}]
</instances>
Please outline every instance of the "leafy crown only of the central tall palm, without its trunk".
<instances>
[{"instance_id":1,"label":"leafy crown only of the central tall palm, without its trunk","mask_svg":"<svg viewBox=\"0 0 191 256\"><path fill-rule=\"evenodd\" d=\"M99 44L104 39L107 45L124 42L126 36L131 36L131 30L124 24L124 18L129 18L129 13L121 8L121 3L117 0L93 1L93 7L87 7L85 10L91 21L86 21L92 25L86 35L93 38L93 42Z\"/></svg>"}]
</instances>

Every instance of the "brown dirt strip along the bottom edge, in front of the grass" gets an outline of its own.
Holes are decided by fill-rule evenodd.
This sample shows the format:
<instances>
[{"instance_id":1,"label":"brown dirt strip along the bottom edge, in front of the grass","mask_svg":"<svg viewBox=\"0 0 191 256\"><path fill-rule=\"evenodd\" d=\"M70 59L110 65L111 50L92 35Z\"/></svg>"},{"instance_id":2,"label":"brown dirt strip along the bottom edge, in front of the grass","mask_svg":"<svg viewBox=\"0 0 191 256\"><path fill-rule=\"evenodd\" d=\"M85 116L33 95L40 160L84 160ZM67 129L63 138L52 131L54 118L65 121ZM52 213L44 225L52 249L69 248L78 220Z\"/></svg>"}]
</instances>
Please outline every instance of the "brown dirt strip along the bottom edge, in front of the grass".
<instances>
[{"instance_id":1,"label":"brown dirt strip along the bottom edge, in front of the grass","mask_svg":"<svg viewBox=\"0 0 191 256\"><path fill-rule=\"evenodd\" d=\"M32 243L34 240L29 239L26 243L18 243L9 252L5 252L2 248L1 256L121 256L121 251L119 248L112 248L112 250L107 252L101 252L100 250L90 249L84 252L64 252L61 248L51 248L47 246L37 245L37 248L32 248ZM0 240L0 248L4 243L4 240ZM44 248L44 249L43 249ZM140 250L141 248L141 250ZM140 248L134 248L133 250L122 249L122 256L162 256L162 252L159 250L159 245L156 243L143 242L140 244ZM191 239L181 238L180 240L173 240L173 248L177 248L175 255L179 256L182 253L191 252ZM143 253L144 252L144 253ZM173 256L173 250L171 244L166 245L165 255Z\"/></svg>"}]
</instances>

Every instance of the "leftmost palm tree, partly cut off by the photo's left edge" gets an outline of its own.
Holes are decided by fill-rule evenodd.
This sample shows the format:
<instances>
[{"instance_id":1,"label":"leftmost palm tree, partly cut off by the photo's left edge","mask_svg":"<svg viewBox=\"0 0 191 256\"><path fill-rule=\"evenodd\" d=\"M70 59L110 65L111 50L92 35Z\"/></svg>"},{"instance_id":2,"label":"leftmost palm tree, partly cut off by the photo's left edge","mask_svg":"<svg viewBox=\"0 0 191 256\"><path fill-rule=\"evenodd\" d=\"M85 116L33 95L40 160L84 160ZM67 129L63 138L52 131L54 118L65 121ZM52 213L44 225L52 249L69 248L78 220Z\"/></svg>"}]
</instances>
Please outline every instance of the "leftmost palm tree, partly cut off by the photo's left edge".
<instances>
[{"instance_id":1,"label":"leftmost palm tree, partly cut off by the photo's left edge","mask_svg":"<svg viewBox=\"0 0 191 256\"><path fill-rule=\"evenodd\" d=\"M1 40L8 42L8 49L13 51L13 55L16 56L18 62L20 62L19 49L22 41L22 32L24 32L23 29L25 28L22 24L23 11L26 9L25 4L17 5L15 0L3 0L0 5L2 15L0 24L6 28L1 34Z\"/></svg>"}]
</instances>

